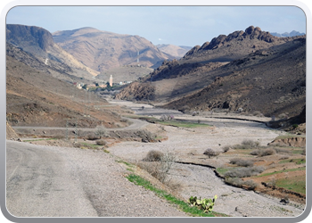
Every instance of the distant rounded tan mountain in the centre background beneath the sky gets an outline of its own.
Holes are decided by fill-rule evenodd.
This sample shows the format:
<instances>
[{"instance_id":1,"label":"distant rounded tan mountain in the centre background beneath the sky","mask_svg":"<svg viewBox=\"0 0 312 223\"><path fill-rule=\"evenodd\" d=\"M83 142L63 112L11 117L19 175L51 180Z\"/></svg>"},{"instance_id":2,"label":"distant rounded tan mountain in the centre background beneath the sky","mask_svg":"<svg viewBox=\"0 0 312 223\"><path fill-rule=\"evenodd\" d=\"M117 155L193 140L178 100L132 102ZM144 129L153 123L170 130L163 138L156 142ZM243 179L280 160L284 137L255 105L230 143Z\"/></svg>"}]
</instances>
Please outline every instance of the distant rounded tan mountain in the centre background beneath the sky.
<instances>
[{"instance_id":1,"label":"distant rounded tan mountain in the centre background beneath the sky","mask_svg":"<svg viewBox=\"0 0 312 223\"><path fill-rule=\"evenodd\" d=\"M98 72L124 65L153 68L172 59L144 37L94 28L57 31L53 33L53 40L79 62Z\"/></svg>"}]
</instances>

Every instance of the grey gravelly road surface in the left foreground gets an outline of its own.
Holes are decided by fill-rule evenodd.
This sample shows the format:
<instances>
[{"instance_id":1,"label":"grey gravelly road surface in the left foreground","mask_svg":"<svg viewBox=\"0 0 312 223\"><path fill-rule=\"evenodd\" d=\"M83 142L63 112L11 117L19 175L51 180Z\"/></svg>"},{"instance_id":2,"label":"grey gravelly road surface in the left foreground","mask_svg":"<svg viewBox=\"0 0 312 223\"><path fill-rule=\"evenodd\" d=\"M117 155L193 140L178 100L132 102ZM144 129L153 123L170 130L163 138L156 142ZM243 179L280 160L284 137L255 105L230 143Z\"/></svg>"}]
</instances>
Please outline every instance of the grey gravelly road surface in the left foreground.
<instances>
[{"instance_id":1,"label":"grey gravelly road surface in the left foreground","mask_svg":"<svg viewBox=\"0 0 312 223\"><path fill-rule=\"evenodd\" d=\"M124 177L102 151L6 144L6 207L15 217L186 217Z\"/></svg>"}]
</instances>

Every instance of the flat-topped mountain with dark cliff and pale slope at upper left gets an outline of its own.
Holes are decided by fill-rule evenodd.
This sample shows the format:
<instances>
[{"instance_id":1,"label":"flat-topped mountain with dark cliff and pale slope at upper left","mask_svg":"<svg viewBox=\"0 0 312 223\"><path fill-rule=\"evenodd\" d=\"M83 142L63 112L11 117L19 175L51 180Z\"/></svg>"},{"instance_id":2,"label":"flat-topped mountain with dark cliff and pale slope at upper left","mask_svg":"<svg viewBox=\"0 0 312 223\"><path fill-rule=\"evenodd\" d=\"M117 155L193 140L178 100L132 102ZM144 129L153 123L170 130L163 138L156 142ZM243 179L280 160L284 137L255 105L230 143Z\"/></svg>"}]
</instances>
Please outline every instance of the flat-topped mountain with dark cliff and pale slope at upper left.
<instances>
[{"instance_id":1,"label":"flat-topped mountain with dark cliff and pale slope at upper left","mask_svg":"<svg viewBox=\"0 0 312 223\"><path fill-rule=\"evenodd\" d=\"M45 69L58 70L59 74L62 73L63 76L58 75L58 78L69 79L69 75L71 75L78 78L93 79L99 74L99 72L78 62L62 47L56 45L52 34L43 28L7 24L6 42L29 53L38 62L45 63Z\"/></svg>"}]
</instances>

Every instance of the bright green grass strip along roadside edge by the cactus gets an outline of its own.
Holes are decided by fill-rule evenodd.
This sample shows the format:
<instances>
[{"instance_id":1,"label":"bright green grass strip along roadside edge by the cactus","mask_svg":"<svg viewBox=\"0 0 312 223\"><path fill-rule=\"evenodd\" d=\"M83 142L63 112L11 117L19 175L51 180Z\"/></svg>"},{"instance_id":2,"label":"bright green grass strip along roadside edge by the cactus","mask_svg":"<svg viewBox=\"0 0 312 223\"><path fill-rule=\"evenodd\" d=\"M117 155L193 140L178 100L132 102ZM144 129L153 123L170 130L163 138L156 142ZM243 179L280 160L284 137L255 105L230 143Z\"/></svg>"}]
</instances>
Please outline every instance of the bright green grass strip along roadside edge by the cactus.
<instances>
[{"instance_id":1,"label":"bright green grass strip along roadside edge by the cactus","mask_svg":"<svg viewBox=\"0 0 312 223\"><path fill-rule=\"evenodd\" d=\"M199 210L197 207L191 207L187 202L181 201L177 199L176 197L174 197L173 195L168 194L166 191L160 190L152 186L152 184L149 181L135 174L130 174L126 178L130 182L133 182L135 185L144 186L145 189L148 189L154 192L155 194L160 196L160 198L164 198L168 202L177 205L177 207L180 210L185 211L185 213L191 214L193 217L226 217L226 215L222 213L218 213L215 211L211 211L210 213L205 213L204 211Z\"/></svg>"}]
</instances>

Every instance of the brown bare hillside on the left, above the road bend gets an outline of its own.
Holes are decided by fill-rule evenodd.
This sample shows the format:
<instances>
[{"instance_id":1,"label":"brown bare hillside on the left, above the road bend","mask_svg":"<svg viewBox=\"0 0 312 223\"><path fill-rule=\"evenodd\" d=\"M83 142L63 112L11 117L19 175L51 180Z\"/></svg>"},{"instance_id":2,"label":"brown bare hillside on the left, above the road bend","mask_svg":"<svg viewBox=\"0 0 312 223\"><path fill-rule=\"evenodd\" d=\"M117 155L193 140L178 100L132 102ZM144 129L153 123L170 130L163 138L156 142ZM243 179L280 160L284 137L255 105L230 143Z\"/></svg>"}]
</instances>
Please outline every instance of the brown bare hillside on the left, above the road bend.
<instances>
[{"instance_id":1,"label":"brown bare hillside on the left, above the road bend","mask_svg":"<svg viewBox=\"0 0 312 223\"><path fill-rule=\"evenodd\" d=\"M125 125L110 107L94 110L94 105L107 105L107 101L88 95L73 84L56 68L45 66L21 48L7 45L6 54L6 120L10 126L65 127L65 119L78 119L81 128L117 128ZM70 78L70 76L68 77ZM85 114L90 117L86 117ZM70 120L73 127L75 120ZM31 133L27 133L31 134ZM57 134L57 133L56 133Z\"/></svg>"}]
</instances>

